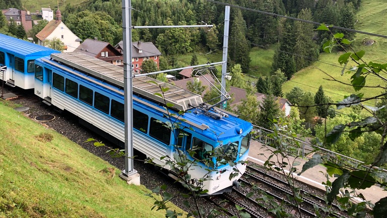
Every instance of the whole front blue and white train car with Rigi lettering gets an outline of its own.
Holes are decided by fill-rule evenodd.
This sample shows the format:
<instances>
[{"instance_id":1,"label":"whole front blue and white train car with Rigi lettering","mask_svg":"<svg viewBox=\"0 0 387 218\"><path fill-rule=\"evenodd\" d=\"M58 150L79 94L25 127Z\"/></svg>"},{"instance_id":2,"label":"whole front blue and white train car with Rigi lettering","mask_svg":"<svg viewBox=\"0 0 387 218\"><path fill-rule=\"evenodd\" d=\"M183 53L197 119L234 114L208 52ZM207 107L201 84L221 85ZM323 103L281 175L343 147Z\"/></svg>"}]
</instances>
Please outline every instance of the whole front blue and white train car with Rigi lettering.
<instances>
[{"instance_id":1,"label":"whole front blue and white train car with Rigi lettering","mask_svg":"<svg viewBox=\"0 0 387 218\"><path fill-rule=\"evenodd\" d=\"M105 137L124 142L121 67L79 52L52 52L50 56L34 60L34 72L34 92L45 103L78 116L105 133ZM178 151L185 153L197 163L188 171L192 184L201 185L209 195L229 191L245 172L243 161L248 156L252 125L214 108L206 110L201 96L164 82L149 83L150 80L153 79L133 79L134 148L170 170L172 178L178 175L165 165L167 158L160 157L174 158ZM169 87L163 98L155 95L161 92L160 86ZM164 126L169 121L165 102L174 105L169 113L185 111L171 118L172 122L180 123L179 129L171 131ZM224 160L235 165L230 166ZM213 170L210 174L209 169ZM231 174L235 175L232 179ZM205 175L208 180L200 182Z\"/></svg>"}]
</instances>

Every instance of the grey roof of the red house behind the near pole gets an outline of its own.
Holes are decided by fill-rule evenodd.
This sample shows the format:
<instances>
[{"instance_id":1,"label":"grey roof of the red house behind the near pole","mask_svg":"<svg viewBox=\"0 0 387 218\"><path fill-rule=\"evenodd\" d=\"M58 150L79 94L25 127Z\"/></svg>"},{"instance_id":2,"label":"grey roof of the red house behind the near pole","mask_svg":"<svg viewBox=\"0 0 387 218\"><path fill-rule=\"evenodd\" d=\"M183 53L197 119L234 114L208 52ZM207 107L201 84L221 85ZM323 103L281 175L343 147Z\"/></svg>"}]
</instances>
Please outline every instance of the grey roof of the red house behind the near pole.
<instances>
[{"instance_id":1,"label":"grey roof of the red house behind the near pole","mask_svg":"<svg viewBox=\"0 0 387 218\"><path fill-rule=\"evenodd\" d=\"M114 47L123 51L123 41L118 42ZM152 42L132 42L132 57L133 58L144 58L152 56L161 56L162 53Z\"/></svg>"}]
</instances>

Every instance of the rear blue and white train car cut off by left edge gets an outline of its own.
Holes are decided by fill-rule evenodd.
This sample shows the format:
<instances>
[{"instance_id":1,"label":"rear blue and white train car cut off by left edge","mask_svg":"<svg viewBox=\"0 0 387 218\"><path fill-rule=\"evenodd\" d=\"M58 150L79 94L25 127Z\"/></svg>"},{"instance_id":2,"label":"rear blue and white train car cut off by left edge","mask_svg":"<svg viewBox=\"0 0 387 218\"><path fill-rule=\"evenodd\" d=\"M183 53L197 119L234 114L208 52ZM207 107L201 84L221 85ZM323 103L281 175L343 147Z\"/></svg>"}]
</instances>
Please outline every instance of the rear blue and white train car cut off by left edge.
<instances>
[{"instance_id":1,"label":"rear blue and white train car cut off by left edge","mask_svg":"<svg viewBox=\"0 0 387 218\"><path fill-rule=\"evenodd\" d=\"M7 66L6 71L0 71L0 80L12 87L32 89L35 59L56 52L60 51L0 34L0 66Z\"/></svg>"}]
</instances>

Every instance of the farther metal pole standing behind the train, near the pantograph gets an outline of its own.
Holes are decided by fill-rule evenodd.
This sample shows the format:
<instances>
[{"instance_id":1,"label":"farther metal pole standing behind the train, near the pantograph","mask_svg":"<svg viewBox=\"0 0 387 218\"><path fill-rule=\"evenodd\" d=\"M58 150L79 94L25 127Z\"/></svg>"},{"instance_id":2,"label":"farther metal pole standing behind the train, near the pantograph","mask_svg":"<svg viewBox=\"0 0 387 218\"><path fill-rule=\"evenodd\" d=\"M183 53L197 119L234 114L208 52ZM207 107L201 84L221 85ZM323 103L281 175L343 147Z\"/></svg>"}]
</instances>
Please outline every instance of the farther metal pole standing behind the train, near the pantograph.
<instances>
[{"instance_id":1,"label":"farther metal pole standing behind the train, near the pantograph","mask_svg":"<svg viewBox=\"0 0 387 218\"><path fill-rule=\"evenodd\" d=\"M224 96L226 94L226 74L227 74L227 51L228 51L228 29L230 23L230 6L226 6L224 13L224 36L223 36L223 62L222 65L222 97L224 100ZM227 101L225 100L222 105L223 108L227 107Z\"/></svg>"}]
</instances>

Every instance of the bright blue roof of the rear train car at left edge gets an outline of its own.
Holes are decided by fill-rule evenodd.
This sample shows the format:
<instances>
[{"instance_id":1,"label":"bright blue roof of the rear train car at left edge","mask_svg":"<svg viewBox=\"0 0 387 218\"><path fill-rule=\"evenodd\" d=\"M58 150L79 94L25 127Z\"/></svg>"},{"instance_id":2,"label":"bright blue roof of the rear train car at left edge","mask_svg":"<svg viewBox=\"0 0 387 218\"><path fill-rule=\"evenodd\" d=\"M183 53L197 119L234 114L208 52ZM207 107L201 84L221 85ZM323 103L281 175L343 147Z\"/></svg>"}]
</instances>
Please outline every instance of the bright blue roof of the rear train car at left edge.
<instances>
[{"instance_id":1,"label":"bright blue roof of the rear train car at left edge","mask_svg":"<svg viewBox=\"0 0 387 218\"><path fill-rule=\"evenodd\" d=\"M0 34L0 42L0 47L4 51L24 57L43 57L49 56L53 52L60 52L52 48L44 47L4 34Z\"/></svg>"}]
</instances>

